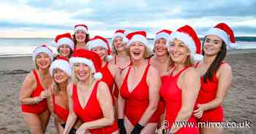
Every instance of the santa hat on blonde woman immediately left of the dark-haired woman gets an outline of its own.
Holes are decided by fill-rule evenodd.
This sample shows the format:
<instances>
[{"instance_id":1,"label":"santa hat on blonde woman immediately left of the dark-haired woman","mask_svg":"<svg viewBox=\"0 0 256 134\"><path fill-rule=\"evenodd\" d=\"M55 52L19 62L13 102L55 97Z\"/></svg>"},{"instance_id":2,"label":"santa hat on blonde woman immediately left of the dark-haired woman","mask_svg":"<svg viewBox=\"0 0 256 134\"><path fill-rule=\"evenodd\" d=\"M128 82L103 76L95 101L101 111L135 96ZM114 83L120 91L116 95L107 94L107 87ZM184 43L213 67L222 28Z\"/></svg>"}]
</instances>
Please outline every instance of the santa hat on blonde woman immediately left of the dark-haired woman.
<instances>
[{"instance_id":1,"label":"santa hat on blonde woman immediately left of the dark-haired woman","mask_svg":"<svg viewBox=\"0 0 256 134\"><path fill-rule=\"evenodd\" d=\"M171 33L169 42L173 39L178 39L184 42L184 44L189 48L190 55L193 60L203 60L203 55L201 55L200 39L198 38L197 33L195 33L195 30L189 25L184 25L181 28L178 28L178 30L175 32Z\"/></svg>"}]
</instances>

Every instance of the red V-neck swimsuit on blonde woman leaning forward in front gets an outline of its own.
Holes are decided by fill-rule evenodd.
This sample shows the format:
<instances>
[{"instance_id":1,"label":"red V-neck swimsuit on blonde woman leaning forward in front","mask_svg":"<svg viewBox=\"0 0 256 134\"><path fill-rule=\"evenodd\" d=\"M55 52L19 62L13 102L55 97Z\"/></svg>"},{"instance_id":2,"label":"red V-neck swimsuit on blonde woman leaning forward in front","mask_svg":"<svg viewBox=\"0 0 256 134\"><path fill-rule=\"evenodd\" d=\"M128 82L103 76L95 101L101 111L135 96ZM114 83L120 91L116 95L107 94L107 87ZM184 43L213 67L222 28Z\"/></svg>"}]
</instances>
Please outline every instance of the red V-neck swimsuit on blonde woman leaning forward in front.
<instances>
[{"instance_id":1,"label":"red V-neck swimsuit on blonde woman leaning forward in front","mask_svg":"<svg viewBox=\"0 0 256 134\"><path fill-rule=\"evenodd\" d=\"M73 84L73 109L75 111L75 114L77 114L83 122L91 122L104 117L102 109L99 106L99 101L97 100L97 87L99 82L100 81L98 81L94 85L94 89L92 90L89 100L84 108L82 108L82 106L80 105L80 102L78 100L78 90L76 85ZM117 122L114 122L113 125L97 129L90 129L89 131L91 134L110 134L115 132L116 130L118 130Z\"/></svg>"}]
</instances>

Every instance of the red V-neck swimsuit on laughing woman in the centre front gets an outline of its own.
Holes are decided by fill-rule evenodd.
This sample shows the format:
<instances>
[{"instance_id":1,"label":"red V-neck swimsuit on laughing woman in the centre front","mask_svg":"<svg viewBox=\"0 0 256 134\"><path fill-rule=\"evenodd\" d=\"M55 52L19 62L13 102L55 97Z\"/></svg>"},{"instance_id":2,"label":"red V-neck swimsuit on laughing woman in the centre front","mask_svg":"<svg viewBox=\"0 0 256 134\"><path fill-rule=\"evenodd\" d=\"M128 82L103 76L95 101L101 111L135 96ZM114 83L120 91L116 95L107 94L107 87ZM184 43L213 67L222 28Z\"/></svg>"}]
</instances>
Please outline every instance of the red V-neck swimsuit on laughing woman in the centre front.
<instances>
[{"instance_id":1,"label":"red V-neck swimsuit on laughing woman in the centre front","mask_svg":"<svg viewBox=\"0 0 256 134\"><path fill-rule=\"evenodd\" d=\"M121 85L120 94L121 97L125 99L124 115L134 126L139 122L140 118L144 114L144 111L146 111L148 107L149 97L146 76L148 74L149 66L150 65L148 64L140 83L138 83L138 85L135 87L134 90L132 90L132 92L129 92L127 85L127 79L131 66L129 67L127 76L125 76L124 82ZM151 119L149 120L149 123L159 123L159 117L160 114L159 110L157 109L157 111L152 115Z\"/></svg>"}]
</instances>

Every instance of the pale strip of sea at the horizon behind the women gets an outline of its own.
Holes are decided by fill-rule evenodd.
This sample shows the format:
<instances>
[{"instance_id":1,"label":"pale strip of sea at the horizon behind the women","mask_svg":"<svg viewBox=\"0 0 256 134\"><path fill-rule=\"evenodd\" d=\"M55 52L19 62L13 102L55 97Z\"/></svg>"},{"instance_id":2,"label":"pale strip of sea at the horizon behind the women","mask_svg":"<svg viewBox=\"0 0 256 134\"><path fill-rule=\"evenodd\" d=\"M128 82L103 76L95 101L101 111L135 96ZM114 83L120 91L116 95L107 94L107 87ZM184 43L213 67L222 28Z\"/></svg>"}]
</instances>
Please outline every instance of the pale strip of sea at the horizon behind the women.
<instances>
[{"instance_id":1,"label":"pale strip of sea at the horizon behind the women","mask_svg":"<svg viewBox=\"0 0 256 134\"><path fill-rule=\"evenodd\" d=\"M47 44L56 53L56 48L50 45L51 42L51 38L0 38L0 57L29 56L42 44ZM111 39L108 39L108 42L111 42ZM256 49L256 36L239 36L236 37L236 42L239 44L236 49ZM148 39L148 44L152 49L153 39Z\"/></svg>"}]
</instances>

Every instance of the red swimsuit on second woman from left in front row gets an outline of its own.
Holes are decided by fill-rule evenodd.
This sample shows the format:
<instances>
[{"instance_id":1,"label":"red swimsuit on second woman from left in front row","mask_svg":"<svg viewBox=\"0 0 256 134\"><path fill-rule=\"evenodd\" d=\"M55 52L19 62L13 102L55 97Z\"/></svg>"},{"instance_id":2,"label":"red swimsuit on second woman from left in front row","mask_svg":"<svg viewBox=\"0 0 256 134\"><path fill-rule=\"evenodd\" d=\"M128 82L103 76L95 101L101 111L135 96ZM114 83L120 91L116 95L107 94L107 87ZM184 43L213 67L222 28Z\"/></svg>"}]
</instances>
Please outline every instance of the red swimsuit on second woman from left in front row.
<instances>
[{"instance_id":1,"label":"red swimsuit on second woman from left in front row","mask_svg":"<svg viewBox=\"0 0 256 134\"><path fill-rule=\"evenodd\" d=\"M53 111L56 115L58 115L62 119L63 122L67 122L69 111L55 103L55 95L53 95Z\"/></svg>"}]
</instances>

